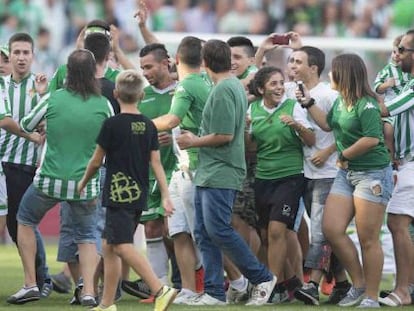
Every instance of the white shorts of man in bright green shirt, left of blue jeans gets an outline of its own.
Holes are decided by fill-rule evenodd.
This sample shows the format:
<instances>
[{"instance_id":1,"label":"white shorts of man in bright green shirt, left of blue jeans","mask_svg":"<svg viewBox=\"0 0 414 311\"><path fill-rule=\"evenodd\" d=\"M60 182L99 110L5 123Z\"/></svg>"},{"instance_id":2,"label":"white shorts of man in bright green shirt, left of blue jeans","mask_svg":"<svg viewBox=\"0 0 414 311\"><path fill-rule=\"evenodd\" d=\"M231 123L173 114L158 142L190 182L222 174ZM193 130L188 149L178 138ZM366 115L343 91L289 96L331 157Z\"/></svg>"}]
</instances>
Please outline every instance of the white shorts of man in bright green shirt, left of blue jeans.
<instances>
[{"instance_id":1,"label":"white shorts of man in bright green shirt, left of blue jeans","mask_svg":"<svg viewBox=\"0 0 414 311\"><path fill-rule=\"evenodd\" d=\"M186 232L194 233L194 194L195 185L183 171L176 171L171 176L169 185L171 201L174 205L174 213L168 217L168 233L171 237Z\"/></svg>"}]
</instances>

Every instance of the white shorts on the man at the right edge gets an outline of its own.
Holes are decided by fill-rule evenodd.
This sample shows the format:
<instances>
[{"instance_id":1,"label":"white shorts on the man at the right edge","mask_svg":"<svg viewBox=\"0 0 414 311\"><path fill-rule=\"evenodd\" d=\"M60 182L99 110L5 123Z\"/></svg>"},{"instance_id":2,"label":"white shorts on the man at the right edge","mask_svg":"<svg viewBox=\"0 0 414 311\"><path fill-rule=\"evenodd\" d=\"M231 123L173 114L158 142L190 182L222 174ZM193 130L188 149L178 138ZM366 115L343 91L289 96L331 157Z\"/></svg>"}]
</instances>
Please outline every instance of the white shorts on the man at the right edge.
<instances>
[{"instance_id":1,"label":"white shorts on the man at the right edge","mask_svg":"<svg viewBox=\"0 0 414 311\"><path fill-rule=\"evenodd\" d=\"M387 213L414 218L414 161L398 167L397 184L388 203Z\"/></svg>"}]
</instances>

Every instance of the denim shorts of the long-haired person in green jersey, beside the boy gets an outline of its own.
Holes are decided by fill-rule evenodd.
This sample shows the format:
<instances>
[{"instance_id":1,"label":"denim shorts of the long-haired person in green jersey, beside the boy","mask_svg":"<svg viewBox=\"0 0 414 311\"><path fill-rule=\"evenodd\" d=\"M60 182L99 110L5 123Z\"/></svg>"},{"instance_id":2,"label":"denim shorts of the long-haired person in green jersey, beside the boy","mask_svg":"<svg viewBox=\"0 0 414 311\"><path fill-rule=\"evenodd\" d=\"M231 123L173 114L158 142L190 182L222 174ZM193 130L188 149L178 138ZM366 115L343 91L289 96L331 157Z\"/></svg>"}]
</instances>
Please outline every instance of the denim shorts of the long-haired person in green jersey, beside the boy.
<instances>
[{"instance_id":1,"label":"denim shorts of the long-haired person in green jersey, beside the boy","mask_svg":"<svg viewBox=\"0 0 414 311\"><path fill-rule=\"evenodd\" d=\"M33 184L27 189L17 212L19 224L36 227L43 216L62 200L52 198ZM96 243L96 202L68 201L73 215L74 240L77 244Z\"/></svg>"}]
</instances>

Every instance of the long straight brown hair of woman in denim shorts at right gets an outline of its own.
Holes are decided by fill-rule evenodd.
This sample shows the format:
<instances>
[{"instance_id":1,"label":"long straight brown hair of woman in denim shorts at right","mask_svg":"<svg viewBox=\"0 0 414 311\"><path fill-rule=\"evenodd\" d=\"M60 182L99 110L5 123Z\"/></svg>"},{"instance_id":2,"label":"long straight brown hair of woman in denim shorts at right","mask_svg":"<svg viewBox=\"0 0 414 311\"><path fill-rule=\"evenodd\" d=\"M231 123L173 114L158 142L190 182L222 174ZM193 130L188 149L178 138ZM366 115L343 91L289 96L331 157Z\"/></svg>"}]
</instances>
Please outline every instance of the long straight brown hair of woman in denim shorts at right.
<instances>
[{"instance_id":1,"label":"long straight brown hair of woman in denim shorts at right","mask_svg":"<svg viewBox=\"0 0 414 311\"><path fill-rule=\"evenodd\" d=\"M362 97L376 98L368 83L367 68L356 54L341 54L332 60L332 80L346 104L355 104Z\"/></svg>"}]
</instances>

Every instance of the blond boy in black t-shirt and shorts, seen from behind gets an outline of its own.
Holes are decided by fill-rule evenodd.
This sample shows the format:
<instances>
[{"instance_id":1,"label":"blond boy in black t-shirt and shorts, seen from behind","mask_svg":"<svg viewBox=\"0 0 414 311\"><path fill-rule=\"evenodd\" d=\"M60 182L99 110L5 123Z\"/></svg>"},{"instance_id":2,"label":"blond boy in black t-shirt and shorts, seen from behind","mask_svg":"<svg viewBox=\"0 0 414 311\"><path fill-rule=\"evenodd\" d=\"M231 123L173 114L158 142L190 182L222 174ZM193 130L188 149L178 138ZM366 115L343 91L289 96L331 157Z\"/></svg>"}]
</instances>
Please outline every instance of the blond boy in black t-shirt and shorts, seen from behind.
<instances>
[{"instance_id":1,"label":"blond boy in black t-shirt and shorts, seen from behind","mask_svg":"<svg viewBox=\"0 0 414 311\"><path fill-rule=\"evenodd\" d=\"M173 212L164 169L160 162L157 129L141 115L136 103L142 96L143 82L135 70L123 71L116 79L114 95L121 113L107 119L97 138L95 153L89 161L78 190L97 172L106 156L107 175L103 206L107 207L103 232L104 292L95 311L115 311L114 297L121 276L121 258L149 285L155 295L155 311L163 311L177 291L163 286L151 265L134 248L133 236L142 211L146 208L149 165L157 178L165 215Z\"/></svg>"}]
</instances>

